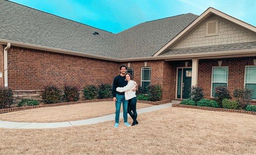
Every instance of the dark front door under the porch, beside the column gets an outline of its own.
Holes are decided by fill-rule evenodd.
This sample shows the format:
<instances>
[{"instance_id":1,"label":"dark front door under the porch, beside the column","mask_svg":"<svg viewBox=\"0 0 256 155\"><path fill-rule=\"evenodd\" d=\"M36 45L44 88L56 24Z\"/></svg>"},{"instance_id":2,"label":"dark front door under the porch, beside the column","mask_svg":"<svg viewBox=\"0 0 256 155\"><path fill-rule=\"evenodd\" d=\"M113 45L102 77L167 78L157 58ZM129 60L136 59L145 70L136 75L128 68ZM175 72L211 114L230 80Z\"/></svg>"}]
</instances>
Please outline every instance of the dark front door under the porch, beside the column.
<instances>
[{"instance_id":1,"label":"dark front door under the porch, beside the column","mask_svg":"<svg viewBox=\"0 0 256 155\"><path fill-rule=\"evenodd\" d=\"M191 89L192 68L183 68L182 99L188 99Z\"/></svg>"}]
</instances>

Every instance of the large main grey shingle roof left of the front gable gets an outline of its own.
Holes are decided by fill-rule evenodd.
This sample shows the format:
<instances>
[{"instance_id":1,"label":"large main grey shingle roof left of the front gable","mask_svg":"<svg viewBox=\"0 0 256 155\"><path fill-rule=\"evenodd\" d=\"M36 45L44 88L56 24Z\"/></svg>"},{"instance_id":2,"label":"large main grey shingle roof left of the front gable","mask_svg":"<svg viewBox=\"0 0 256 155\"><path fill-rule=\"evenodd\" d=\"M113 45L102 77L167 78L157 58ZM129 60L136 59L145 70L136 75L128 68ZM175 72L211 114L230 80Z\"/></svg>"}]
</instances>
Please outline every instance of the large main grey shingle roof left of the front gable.
<instances>
[{"instance_id":1,"label":"large main grey shingle roof left of the front gable","mask_svg":"<svg viewBox=\"0 0 256 155\"><path fill-rule=\"evenodd\" d=\"M0 39L113 58L152 56L198 17L181 14L112 34L6 0L0 10Z\"/></svg>"}]
</instances>

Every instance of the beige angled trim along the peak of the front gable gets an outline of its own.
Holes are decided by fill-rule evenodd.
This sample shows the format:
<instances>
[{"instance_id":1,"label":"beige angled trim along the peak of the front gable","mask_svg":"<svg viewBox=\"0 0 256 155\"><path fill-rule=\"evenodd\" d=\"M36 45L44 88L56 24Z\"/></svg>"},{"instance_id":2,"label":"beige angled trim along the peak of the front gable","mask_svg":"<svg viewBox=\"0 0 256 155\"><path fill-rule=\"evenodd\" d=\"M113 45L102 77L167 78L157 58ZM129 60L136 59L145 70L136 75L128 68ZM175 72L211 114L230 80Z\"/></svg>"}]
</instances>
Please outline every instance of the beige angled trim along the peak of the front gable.
<instances>
[{"instance_id":1,"label":"beige angled trim along the peak of the front gable","mask_svg":"<svg viewBox=\"0 0 256 155\"><path fill-rule=\"evenodd\" d=\"M237 25L240 25L241 27L247 28L250 31L256 32L256 27L254 27L253 25L247 24L241 20L238 20L234 17L231 17L230 15L227 15L221 11L216 10L215 8L211 8L209 7L206 11L204 11L200 16L198 16L192 23L190 23L186 28L184 28L179 34L177 34L172 40L170 40L166 45L164 45L162 48L160 48L160 50L158 50L153 56L158 56L159 54L161 54L164 50L166 50L166 48L169 48L170 45L172 45L173 42L175 42L177 39L179 39L180 37L183 36L183 34L185 34L187 31L194 29L193 27L195 27L195 25L200 22L201 20L205 20L205 17L209 17L207 15L211 15L211 14L215 14L217 16L220 16L228 21L231 21L233 23L236 23ZM201 21L201 23L203 23Z\"/></svg>"}]
</instances>

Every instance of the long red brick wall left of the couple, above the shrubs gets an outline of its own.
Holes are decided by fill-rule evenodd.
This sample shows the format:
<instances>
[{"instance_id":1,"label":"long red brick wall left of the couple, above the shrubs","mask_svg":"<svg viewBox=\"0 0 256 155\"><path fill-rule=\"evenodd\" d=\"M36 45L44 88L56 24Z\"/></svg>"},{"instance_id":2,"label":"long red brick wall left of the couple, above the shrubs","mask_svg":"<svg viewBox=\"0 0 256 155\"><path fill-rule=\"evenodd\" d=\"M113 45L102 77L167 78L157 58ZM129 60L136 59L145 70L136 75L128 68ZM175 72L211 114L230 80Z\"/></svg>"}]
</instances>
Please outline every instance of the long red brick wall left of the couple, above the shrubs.
<instances>
[{"instance_id":1,"label":"long red brick wall left of the couple, above the shrubs","mask_svg":"<svg viewBox=\"0 0 256 155\"><path fill-rule=\"evenodd\" d=\"M16 47L9 49L8 65L16 56L8 70L13 90L41 90L49 83L60 89L66 84L81 88L112 83L119 70L116 62Z\"/></svg>"}]
</instances>

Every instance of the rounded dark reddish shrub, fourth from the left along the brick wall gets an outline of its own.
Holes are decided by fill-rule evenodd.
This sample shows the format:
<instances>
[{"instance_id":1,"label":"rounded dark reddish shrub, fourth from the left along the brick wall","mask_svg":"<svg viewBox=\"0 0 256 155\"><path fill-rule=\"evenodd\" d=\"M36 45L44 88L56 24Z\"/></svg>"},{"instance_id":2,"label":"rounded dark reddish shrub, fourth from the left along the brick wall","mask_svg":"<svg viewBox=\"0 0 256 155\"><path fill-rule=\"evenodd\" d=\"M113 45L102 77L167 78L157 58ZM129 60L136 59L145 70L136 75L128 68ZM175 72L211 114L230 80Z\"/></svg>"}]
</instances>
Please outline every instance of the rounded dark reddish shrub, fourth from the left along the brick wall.
<instances>
[{"instance_id":1,"label":"rounded dark reddish shrub, fourth from the left along the brick wall","mask_svg":"<svg viewBox=\"0 0 256 155\"><path fill-rule=\"evenodd\" d=\"M79 90L77 86L66 85L64 86L64 100L73 102L79 100Z\"/></svg>"}]
</instances>

